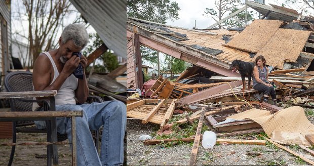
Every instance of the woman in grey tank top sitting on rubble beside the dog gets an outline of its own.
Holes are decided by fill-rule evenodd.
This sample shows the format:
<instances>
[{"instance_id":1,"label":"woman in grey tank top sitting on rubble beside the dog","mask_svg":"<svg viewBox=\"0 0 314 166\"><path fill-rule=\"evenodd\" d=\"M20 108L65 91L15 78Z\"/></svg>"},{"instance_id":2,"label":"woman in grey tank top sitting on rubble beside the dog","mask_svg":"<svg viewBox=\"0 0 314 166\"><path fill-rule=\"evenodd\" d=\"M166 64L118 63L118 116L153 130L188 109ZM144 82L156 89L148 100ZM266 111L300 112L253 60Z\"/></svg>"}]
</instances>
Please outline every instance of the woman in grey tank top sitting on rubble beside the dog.
<instances>
[{"instance_id":1,"label":"woman in grey tank top sitting on rubble beside the dog","mask_svg":"<svg viewBox=\"0 0 314 166\"><path fill-rule=\"evenodd\" d=\"M263 99L267 103L269 95L272 98L274 104L276 104L276 91L274 90L273 86L269 83L268 80L268 68L265 66L266 60L265 58L260 55L255 59L255 66L253 69L253 88L257 90L259 93L263 94Z\"/></svg>"}]
</instances>

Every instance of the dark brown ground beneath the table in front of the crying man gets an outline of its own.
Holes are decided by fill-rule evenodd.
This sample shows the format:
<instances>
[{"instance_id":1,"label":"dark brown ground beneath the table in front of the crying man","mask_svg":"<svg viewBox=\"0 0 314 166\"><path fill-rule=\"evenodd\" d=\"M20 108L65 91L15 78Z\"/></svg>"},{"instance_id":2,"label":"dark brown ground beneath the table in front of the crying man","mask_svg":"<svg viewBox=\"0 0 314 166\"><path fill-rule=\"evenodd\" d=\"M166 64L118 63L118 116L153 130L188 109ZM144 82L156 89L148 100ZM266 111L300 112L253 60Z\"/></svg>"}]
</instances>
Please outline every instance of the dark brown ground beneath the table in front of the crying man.
<instances>
[{"instance_id":1,"label":"dark brown ground beneath the table in front of the crying man","mask_svg":"<svg viewBox=\"0 0 314 166\"><path fill-rule=\"evenodd\" d=\"M41 133L18 133L17 143L46 141ZM67 140L66 140L67 141ZM12 139L0 139L0 143L9 143ZM0 165L8 165L11 146L0 146ZM47 146L17 145L12 165L47 165ZM72 165L72 154L69 144L58 145L59 165Z\"/></svg>"}]
</instances>

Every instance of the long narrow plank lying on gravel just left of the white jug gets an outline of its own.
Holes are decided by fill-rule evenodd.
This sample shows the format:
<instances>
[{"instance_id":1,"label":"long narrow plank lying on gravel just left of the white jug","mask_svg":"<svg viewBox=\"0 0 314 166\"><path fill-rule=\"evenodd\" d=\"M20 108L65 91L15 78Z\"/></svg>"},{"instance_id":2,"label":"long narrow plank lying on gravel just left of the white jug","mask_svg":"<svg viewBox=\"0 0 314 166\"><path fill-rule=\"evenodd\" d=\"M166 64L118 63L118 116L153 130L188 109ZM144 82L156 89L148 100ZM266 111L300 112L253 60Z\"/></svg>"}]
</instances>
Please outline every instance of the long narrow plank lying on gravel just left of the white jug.
<instances>
[{"instance_id":1,"label":"long narrow plank lying on gravel just left of the white jug","mask_svg":"<svg viewBox=\"0 0 314 166\"><path fill-rule=\"evenodd\" d=\"M202 113L200 116L198 129L197 129L197 132L195 134L193 148L192 148L191 155L190 155L189 165L195 165L195 161L197 158L200 140L201 140L201 132L202 132L202 127L203 127L204 112L205 112L205 107L202 108Z\"/></svg>"}]
</instances>

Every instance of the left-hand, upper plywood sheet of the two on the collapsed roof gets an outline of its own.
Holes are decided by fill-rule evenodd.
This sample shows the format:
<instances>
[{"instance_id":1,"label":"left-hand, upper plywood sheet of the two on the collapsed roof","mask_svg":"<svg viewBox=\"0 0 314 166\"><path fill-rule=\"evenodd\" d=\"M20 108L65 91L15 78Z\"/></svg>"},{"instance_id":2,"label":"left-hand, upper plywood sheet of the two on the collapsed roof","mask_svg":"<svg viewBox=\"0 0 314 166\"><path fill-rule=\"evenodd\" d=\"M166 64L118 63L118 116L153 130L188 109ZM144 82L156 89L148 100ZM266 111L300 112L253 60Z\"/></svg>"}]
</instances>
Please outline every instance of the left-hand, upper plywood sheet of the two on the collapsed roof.
<instances>
[{"instance_id":1,"label":"left-hand, upper plywood sheet of the two on the collapsed roof","mask_svg":"<svg viewBox=\"0 0 314 166\"><path fill-rule=\"evenodd\" d=\"M282 23L279 20L255 20L225 46L258 53Z\"/></svg>"}]
</instances>

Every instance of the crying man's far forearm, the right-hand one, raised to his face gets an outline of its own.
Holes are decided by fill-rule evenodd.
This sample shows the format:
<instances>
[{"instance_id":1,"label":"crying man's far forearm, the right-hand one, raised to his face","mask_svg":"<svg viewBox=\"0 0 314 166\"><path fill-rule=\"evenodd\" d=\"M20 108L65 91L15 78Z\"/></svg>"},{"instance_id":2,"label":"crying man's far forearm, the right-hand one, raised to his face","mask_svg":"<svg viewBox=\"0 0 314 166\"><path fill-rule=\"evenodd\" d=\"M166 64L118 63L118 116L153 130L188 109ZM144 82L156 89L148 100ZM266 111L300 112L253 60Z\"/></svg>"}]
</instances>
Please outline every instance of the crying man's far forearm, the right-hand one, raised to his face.
<instances>
[{"instance_id":1,"label":"crying man's far forearm, the right-hand one, raised to his face","mask_svg":"<svg viewBox=\"0 0 314 166\"><path fill-rule=\"evenodd\" d=\"M78 103L84 103L86 102L86 99L89 94L89 88L87 85L87 80L86 80L86 74L85 74L85 67L87 65L87 59L82 56L81 58L81 64L83 66L83 79L78 79L78 85L77 89L75 90L75 97L78 100Z\"/></svg>"}]
</instances>

